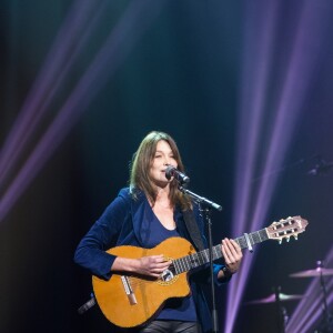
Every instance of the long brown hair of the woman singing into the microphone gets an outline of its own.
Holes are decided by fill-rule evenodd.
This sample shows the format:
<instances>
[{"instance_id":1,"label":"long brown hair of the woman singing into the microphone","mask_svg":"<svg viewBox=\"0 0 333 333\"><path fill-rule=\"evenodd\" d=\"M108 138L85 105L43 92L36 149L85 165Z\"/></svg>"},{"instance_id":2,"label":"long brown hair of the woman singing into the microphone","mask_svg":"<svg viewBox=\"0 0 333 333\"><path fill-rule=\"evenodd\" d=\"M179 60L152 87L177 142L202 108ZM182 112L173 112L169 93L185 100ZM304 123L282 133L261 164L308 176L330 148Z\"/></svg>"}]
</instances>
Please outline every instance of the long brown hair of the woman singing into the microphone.
<instances>
[{"instance_id":1,"label":"long brown hair of the woman singing into the microphone","mask_svg":"<svg viewBox=\"0 0 333 333\"><path fill-rule=\"evenodd\" d=\"M159 141L164 140L169 143L173 158L176 161L178 170L184 172L184 165L179 153L175 141L164 132L153 131L150 132L140 143L139 149L133 154L132 162L130 164L130 189L132 196L135 199L135 190L141 190L148 196L148 199L154 204L157 199L157 190L153 185L150 175L150 169L153 163L153 159L157 152L157 145ZM191 209L190 199L184 195L178 189L178 181L173 179L170 183L169 199L174 206L180 204L183 210Z\"/></svg>"}]
</instances>

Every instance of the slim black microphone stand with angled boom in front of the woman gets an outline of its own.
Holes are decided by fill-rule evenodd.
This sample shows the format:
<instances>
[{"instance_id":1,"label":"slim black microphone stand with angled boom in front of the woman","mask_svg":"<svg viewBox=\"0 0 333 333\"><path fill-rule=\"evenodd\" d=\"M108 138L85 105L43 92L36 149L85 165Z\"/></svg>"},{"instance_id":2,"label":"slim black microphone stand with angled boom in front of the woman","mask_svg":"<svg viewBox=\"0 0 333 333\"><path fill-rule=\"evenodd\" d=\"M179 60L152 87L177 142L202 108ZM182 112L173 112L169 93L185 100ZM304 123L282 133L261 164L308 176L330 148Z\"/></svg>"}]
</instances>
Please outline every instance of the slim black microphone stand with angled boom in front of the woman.
<instances>
[{"instance_id":1,"label":"slim black microphone stand with angled boom in front of the woman","mask_svg":"<svg viewBox=\"0 0 333 333\"><path fill-rule=\"evenodd\" d=\"M202 213L203 220L208 224L208 234L209 234L209 249L210 249L210 274L211 274L211 293L212 293L212 326L213 333L219 332L219 321L218 321L218 310L215 302L215 287L214 287L214 269L213 269L213 239L212 239L212 220L211 220L211 210L215 209L222 211L222 206L218 203L214 203L203 196L200 196L192 191L185 189L182 184L179 184L179 190L184 194L190 195L199 204L200 212Z\"/></svg>"}]
</instances>

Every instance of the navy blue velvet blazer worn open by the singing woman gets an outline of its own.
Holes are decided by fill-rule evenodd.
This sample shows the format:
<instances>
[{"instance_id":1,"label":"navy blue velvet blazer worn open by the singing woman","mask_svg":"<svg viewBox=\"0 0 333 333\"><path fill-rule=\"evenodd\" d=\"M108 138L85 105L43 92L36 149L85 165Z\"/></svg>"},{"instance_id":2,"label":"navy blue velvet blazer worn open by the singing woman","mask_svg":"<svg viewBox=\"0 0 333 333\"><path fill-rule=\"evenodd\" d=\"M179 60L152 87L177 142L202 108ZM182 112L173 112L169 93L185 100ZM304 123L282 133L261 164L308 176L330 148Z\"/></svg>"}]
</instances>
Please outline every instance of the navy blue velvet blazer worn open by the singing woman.
<instances>
[{"instance_id":1,"label":"navy blue velvet blazer worn open by the singing woman","mask_svg":"<svg viewBox=\"0 0 333 333\"><path fill-rule=\"evenodd\" d=\"M142 235L147 232L142 231L148 228L144 223L145 214L149 213L147 210L151 209L147 202L142 192L139 192L138 199L133 200L130 189L122 189L79 243L74 254L75 263L90 270L92 274L109 280L112 275L110 269L115 256L107 253L107 250L119 245L144 248ZM178 209L175 210L176 213L181 213L181 211ZM203 236L204 223L195 203L193 203L193 213L201 231L203 244L206 248L206 240ZM184 220L175 219L175 221L179 234L193 244ZM214 282L218 285L225 282L218 281L218 272L221 269L222 265L214 264ZM198 319L203 332L211 331L211 315L202 290L202 285L209 281L209 268L201 269L189 276Z\"/></svg>"}]
</instances>

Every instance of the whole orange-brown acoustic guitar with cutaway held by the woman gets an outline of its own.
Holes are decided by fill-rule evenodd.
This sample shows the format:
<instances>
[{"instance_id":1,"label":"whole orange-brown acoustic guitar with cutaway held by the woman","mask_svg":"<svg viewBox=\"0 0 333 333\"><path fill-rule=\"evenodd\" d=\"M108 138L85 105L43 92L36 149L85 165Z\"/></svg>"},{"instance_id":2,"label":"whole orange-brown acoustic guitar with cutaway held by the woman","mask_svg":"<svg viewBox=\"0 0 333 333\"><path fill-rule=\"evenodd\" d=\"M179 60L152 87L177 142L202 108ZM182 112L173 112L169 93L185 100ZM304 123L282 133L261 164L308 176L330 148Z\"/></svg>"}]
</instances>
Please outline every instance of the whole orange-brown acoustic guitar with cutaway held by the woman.
<instances>
[{"instance_id":1,"label":"whole orange-brown acoustic guitar with cutaway held by the woman","mask_svg":"<svg viewBox=\"0 0 333 333\"><path fill-rule=\"evenodd\" d=\"M235 239L241 249L252 250L254 244L266 240L291 236L297 239L305 231L307 221L301 216L273 222L270 226ZM172 261L161 278L124 273L112 274L109 281L92 276L97 302L104 316L120 327L133 327L152 320L164 302L171 297L184 297L190 294L188 272L210 262L210 250L196 252L193 245L182 238L171 238L153 249L138 246L117 246L107 251L113 255L138 259L147 255L163 254ZM213 260L223 256L221 244L212 249Z\"/></svg>"}]
</instances>

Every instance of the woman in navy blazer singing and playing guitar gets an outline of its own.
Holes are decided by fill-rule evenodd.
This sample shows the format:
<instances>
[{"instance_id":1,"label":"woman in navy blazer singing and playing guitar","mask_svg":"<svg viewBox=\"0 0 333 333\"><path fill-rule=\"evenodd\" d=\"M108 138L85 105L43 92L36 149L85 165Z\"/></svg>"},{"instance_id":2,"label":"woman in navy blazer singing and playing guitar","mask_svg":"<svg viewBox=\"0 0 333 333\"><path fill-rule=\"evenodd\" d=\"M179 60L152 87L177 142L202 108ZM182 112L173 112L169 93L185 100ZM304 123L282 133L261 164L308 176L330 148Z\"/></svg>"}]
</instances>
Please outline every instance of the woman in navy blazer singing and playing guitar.
<instances>
[{"instance_id":1,"label":"woman in navy blazer singing and playing guitar","mask_svg":"<svg viewBox=\"0 0 333 333\"><path fill-rule=\"evenodd\" d=\"M112 272L161 279L161 274L172 264L164 259L163 253L130 259L105 251L119 245L152 249L174 236L192 242L191 231L184 222L184 212L194 216L201 235L204 234L198 204L179 191L175 179L165 178L168 165L184 171L174 140L163 132L149 133L133 155L130 186L120 191L81 240L74 256L78 264L104 280L109 280ZM204 236L202 243L206 246ZM242 260L241 249L233 240L224 239L221 248L225 265L214 264L214 282L218 285L230 280ZM168 300L152 321L133 331L209 332L210 311L201 289L203 282L209 283L209 279L208 268L190 274L190 295Z\"/></svg>"}]
</instances>

